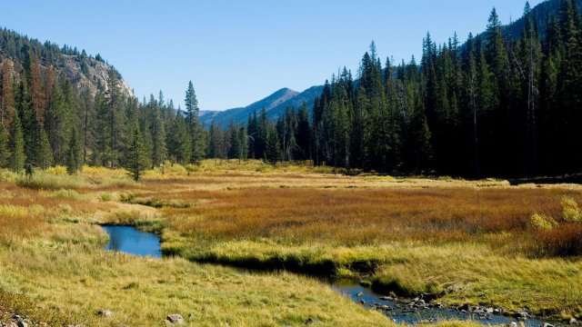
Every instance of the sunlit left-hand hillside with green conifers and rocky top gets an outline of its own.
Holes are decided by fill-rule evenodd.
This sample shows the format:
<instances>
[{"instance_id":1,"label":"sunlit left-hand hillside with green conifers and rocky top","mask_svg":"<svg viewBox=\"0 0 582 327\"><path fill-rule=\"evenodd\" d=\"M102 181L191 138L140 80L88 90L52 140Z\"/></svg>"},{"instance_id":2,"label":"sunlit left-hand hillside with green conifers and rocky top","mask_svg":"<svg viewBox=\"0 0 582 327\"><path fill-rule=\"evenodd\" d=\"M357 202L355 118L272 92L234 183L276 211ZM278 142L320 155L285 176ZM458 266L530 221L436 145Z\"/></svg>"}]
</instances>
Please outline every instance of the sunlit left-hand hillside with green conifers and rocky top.
<instances>
[{"instance_id":1,"label":"sunlit left-hand hillside with green conifers and rocky top","mask_svg":"<svg viewBox=\"0 0 582 327\"><path fill-rule=\"evenodd\" d=\"M43 45L6 29L0 30L0 65L2 167L65 165L75 173L86 163L138 173L206 154L192 84L186 117L161 92L140 104L99 54Z\"/></svg>"}]
</instances>

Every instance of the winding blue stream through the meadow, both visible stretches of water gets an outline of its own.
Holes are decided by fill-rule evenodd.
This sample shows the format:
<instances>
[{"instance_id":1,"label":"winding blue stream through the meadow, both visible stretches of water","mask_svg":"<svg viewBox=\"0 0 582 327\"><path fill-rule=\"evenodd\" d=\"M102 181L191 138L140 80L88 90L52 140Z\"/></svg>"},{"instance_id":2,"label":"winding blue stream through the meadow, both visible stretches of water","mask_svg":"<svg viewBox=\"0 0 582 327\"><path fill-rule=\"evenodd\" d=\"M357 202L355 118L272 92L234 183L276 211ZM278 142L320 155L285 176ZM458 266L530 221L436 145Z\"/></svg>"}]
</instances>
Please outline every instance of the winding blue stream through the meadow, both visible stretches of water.
<instances>
[{"instance_id":1,"label":"winding blue stream through the meadow, both visible stretches of water","mask_svg":"<svg viewBox=\"0 0 582 327\"><path fill-rule=\"evenodd\" d=\"M105 250L120 253L129 253L138 256L162 256L160 238L155 233L142 232L131 226L102 226L109 234L109 243ZM392 299L373 292L370 288L360 286L351 281L331 282L331 288L336 292L364 305L367 309L376 309L383 312L386 317L397 323L416 324L426 322L438 322L442 320L474 321L484 325L505 324L517 322L516 319L500 314L490 314L484 310L466 312L454 308L438 308L433 305L413 305L410 299ZM541 327L551 324L563 325L560 322L550 322L538 319L523 321L527 327ZM519 325L519 323L518 323Z\"/></svg>"}]
</instances>

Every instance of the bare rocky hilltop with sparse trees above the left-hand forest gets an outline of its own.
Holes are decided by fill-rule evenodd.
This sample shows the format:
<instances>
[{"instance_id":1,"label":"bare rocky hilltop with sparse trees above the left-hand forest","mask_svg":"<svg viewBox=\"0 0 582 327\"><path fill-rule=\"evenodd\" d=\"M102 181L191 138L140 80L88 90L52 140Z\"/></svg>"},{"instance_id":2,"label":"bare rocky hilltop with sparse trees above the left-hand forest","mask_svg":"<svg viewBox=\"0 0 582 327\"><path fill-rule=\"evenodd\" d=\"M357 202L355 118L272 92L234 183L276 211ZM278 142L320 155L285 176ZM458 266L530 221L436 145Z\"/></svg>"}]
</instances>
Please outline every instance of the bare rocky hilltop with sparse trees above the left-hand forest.
<instances>
[{"instance_id":1,"label":"bare rocky hilltop with sparse trees above the left-hand forest","mask_svg":"<svg viewBox=\"0 0 582 327\"><path fill-rule=\"evenodd\" d=\"M18 76L29 56L37 60L43 71L51 67L56 75L64 76L74 88L88 91L95 95L97 91L107 90L107 73L113 68L101 55L88 55L85 50L79 52L76 47L58 45L19 35L6 28L0 29L0 64L7 61L14 76ZM114 68L115 69L115 68ZM129 85L121 79L120 91L125 97L134 96Z\"/></svg>"}]
</instances>

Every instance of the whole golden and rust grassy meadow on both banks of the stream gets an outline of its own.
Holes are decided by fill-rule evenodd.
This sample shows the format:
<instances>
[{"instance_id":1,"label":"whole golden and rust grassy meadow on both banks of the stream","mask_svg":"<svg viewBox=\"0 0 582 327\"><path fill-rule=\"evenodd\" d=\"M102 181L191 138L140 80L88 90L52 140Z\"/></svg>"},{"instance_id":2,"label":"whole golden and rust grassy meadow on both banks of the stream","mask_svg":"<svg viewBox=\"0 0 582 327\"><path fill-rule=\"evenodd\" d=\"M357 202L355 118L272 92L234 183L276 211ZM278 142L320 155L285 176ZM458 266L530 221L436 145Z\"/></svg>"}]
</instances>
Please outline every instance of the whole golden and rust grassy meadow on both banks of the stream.
<instances>
[{"instance_id":1,"label":"whole golden and rust grassy meadow on both banks of the stream","mask_svg":"<svg viewBox=\"0 0 582 327\"><path fill-rule=\"evenodd\" d=\"M336 277L581 316L581 186L351 173L210 160L140 183L91 167L30 181L2 172L0 307L54 324L149 325L173 312L195 325L390 324L318 282ZM159 233L166 258L103 252L100 223Z\"/></svg>"}]
</instances>

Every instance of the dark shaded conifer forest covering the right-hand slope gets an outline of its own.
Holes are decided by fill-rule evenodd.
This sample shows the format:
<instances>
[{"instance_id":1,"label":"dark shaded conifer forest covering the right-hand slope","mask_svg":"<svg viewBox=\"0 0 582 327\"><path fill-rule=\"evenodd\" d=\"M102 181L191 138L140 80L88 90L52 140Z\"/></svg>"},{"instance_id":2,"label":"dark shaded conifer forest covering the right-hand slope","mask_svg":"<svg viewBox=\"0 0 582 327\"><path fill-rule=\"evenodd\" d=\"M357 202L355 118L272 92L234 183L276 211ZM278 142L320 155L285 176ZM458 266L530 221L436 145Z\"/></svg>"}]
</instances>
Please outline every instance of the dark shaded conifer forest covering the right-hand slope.
<instances>
[{"instance_id":1,"label":"dark shaded conifer forest covering the right-hand slope","mask_svg":"<svg viewBox=\"0 0 582 327\"><path fill-rule=\"evenodd\" d=\"M545 31L538 31L540 19ZM265 113L251 116L246 155L387 173L578 173L577 1L561 0L559 11L546 17L534 17L527 4L522 20L522 33L511 35L494 8L487 31L468 35L463 45L457 34L442 45L427 34L419 63L413 56L408 63L388 58L382 64L372 43L356 79L344 68L326 81L310 119L305 108L273 124Z\"/></svg>"}]
</instances>

